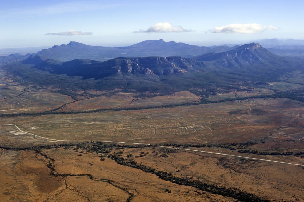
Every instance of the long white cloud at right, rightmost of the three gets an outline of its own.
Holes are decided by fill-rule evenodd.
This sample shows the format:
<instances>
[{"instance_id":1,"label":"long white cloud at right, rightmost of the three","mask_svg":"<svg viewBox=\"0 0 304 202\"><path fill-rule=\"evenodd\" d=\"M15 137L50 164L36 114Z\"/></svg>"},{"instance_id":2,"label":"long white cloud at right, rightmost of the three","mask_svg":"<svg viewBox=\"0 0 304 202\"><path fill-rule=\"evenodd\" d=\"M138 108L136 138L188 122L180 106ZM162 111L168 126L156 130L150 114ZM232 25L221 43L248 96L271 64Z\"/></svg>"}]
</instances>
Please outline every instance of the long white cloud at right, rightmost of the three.
<instances>
[{"instance_id":1,"label":"long white cloud at right, rightmost of the three","mask_svg":"<svg viewBox=\"0 0 304 202\"><path fill-rule=\"evenodd\" d=\"M251 24L230 24L222 27L215 27L210 30L211 33L242 33L242 34L252 34L261 33L265 30L278 30L275 26L262 26L261 24L251 23Z\"/></svg>"}]
</instances>

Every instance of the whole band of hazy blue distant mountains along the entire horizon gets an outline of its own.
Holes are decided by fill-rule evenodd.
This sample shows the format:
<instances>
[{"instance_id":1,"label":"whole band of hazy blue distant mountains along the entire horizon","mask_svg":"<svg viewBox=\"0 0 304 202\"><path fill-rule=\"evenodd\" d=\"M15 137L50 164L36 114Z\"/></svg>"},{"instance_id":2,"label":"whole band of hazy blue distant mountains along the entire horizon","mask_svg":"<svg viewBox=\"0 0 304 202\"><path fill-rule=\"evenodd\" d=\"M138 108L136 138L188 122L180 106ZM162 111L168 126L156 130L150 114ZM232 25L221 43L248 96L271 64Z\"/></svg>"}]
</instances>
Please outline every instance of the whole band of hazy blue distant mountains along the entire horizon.
<instances>
[{"instance_id":1,"label":"whole band of hazy blue distant mountains along the entire horizon","mask_svg":"<svg viewBox=\"0 0 304 202\"><path fill-rule=\"evenodd\" d=\"M250 42L252 43L252 42ZM263 39L259 40L263 47L281 56L304 56L304 40L295 39ZM38 55L52 60L66 62L74 59L88 59L106 61L116 57L143 57L143 56L183 56L192 57L206 53L221 53L233 50L242 44L219 46L195 46L174 41L165 42L163 39L147 40L126 47L89 46L71 41L68 44L42 49L37 53L21 55L14 53L0 56L0 65L5 65L30 55Z\"/></svg>"}]
</instances>

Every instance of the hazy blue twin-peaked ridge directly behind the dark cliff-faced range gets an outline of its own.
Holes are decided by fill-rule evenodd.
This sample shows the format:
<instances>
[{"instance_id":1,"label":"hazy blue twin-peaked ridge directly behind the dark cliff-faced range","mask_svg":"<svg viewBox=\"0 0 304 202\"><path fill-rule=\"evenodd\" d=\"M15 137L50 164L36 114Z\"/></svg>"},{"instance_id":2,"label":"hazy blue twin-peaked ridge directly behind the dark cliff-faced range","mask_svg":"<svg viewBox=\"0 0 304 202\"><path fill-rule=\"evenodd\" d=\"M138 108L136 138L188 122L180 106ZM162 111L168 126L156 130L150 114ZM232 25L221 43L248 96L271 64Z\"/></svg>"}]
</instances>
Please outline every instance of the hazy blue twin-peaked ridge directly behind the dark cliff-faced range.
<instances>
[{"instance_id":1,"label":"hazy blue twin-peaked ridge directly behind the dark cliff-faced range","mask_svg":"<svg viewBox=\"0 0 304 202\"><path fill-rule=\"evenodd\" d=\"M74 59L89 59L106 61L117 57L144 57L144 56L197 56L204 53L230 50L230 47L195 46L174 41L148 40L126 47L89 46L78 42L67 45L53 46L38 52L39 56L52 60L69 61Z\"/></svg>"}]
</instances>

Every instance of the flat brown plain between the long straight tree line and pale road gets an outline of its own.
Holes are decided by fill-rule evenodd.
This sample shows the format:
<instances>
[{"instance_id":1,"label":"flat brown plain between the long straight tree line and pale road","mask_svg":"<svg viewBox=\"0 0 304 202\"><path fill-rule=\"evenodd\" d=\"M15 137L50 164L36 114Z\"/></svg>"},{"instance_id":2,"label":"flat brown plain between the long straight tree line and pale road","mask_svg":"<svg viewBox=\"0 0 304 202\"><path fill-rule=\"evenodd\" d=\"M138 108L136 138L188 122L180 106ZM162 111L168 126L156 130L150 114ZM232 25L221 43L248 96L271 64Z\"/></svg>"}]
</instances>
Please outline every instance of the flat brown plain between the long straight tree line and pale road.
<instances>
[{"instance_id":1,"label":"flat brown plain between the long straight tree line and pale road","mask_svg":"<svg viewBox=\"0 0 304 202\"><path fill-rule=\"evenodd\" d=\"M297 101L282 98L0 120L51 139L223 144L303 140L303 110Z\"/></svg>"}]
</instances>

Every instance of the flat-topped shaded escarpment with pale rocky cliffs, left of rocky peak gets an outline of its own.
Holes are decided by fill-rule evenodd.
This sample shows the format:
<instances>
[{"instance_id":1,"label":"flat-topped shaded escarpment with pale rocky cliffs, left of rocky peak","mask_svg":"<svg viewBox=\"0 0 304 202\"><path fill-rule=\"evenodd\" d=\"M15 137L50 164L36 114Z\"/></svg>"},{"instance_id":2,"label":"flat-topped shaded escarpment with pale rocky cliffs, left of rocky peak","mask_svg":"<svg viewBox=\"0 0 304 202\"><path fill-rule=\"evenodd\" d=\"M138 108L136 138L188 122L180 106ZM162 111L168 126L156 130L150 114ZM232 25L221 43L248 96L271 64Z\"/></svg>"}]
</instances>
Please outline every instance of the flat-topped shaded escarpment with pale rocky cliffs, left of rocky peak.
<instances>
[{"instance_id":1,"label":"flat-topped shaded escarpment with pale rocky cliffs, left of rocky peak","mask_svg":"<svg viewBox=\"0 0 304 202\"><path fill-rule=\"evenodd\" d=\"M105 62L71 60L50 66L49 70L54 74L100 79L112 74L156 74L158 76L181 74L186 73L187 69L193 69L192 64L194 63L195 61L191 58L184 57L115 58ZM43 64L41 63L41 65ZM36 64L35 67L40 68L41 65Z\"/></svg>"}]
</instances>

